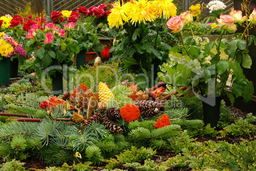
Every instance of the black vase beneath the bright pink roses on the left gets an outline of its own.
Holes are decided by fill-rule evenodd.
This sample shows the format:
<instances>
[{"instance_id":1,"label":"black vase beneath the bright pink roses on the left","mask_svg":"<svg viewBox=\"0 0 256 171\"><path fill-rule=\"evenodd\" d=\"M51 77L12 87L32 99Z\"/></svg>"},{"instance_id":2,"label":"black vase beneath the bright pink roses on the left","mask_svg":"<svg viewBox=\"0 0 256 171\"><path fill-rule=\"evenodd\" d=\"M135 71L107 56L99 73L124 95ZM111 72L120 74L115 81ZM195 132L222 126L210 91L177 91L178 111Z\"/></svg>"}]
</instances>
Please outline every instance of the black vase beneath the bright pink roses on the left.
<instances>
[{"instance_id":1,"label":"black vase beneath the bright pink roses on the left","mask_svg":"<svg viewBox=\"0 0 256 171\"><path fill-rule=\"evenodd\" d=\"M58 96L63 93L63 74L62 72L56 71L55 76L52 78L52 93Z\"/></svg>"}]
</instances>

